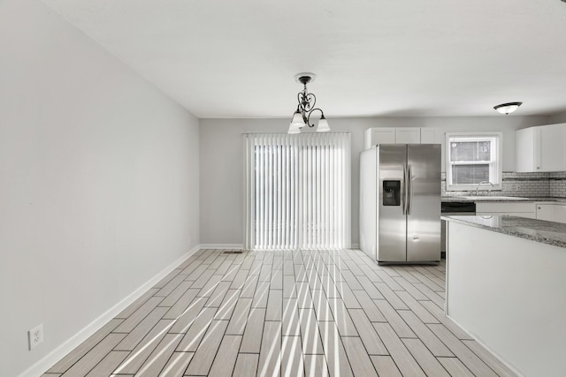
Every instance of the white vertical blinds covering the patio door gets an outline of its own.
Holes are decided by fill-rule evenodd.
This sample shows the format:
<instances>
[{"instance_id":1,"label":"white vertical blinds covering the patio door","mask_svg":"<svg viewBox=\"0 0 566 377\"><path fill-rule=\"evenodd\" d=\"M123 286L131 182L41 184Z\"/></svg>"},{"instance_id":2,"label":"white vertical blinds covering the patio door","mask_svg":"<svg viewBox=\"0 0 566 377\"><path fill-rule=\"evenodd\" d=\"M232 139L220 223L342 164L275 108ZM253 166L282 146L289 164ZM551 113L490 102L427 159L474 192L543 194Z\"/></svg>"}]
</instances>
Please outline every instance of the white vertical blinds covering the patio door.
<instances>
[{"instance_id":1,"label":"white vertical blinds covering the patio door","mask_svg":"<svg viewBox=\"0 0 566 377\"><path fill-rule=\"evenodd\" d=\"M249 249L350 247L350 133L247 133Z\"/></svg>"}]
</instances>

